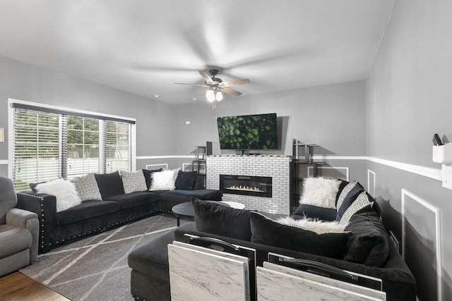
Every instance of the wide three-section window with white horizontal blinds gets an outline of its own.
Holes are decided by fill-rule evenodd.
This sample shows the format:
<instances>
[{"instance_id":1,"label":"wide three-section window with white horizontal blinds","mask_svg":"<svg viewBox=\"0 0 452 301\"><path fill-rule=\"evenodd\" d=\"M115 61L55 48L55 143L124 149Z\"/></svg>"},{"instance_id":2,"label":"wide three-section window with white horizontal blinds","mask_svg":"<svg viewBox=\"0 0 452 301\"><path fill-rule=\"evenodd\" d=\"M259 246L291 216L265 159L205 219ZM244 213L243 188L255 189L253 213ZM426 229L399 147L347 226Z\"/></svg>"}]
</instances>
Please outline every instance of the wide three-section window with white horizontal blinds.
<instances>
[{"instance_id":1,"label":"wide three-section window with white horizontal blinds","mask_svg":"<svg viewBox=\"0 0 452 301\"><path fill-rule=\"evenodd\" d=\"M135 168L134 120L11 102L11 178L28 183Z\"/></svg>"}]
</instances>

